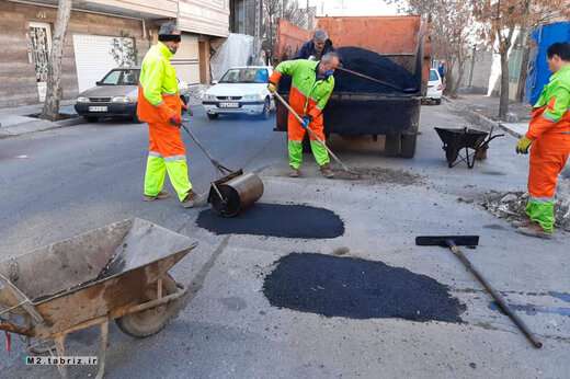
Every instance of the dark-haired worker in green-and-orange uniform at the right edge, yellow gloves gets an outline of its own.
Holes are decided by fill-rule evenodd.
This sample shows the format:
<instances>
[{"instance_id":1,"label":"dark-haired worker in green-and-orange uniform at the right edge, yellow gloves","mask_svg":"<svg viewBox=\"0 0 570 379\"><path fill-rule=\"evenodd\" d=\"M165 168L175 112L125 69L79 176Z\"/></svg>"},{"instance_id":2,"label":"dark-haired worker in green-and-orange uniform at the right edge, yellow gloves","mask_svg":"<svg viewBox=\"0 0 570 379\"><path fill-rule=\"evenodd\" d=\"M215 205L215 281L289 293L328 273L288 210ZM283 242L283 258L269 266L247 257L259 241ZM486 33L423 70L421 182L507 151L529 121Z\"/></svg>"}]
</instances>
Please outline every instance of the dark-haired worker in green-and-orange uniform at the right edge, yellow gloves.
<instances>
[{"instance_id":1,"label":"dark-haired worker in green-and-orange uniform at the right edge, yellow gloves","mask_svg":"<svg viewBox=\"0 0 570 379\"><path fill-rule=\"evenodd\" d=\"M520 233L551 238L555 226L555 194L558 175L570 154L570 43L556 43L547 50L552 72L533 110L528 131L516 145L517 153L531 149L528 220Z\"/></svg>"}]
</instances>

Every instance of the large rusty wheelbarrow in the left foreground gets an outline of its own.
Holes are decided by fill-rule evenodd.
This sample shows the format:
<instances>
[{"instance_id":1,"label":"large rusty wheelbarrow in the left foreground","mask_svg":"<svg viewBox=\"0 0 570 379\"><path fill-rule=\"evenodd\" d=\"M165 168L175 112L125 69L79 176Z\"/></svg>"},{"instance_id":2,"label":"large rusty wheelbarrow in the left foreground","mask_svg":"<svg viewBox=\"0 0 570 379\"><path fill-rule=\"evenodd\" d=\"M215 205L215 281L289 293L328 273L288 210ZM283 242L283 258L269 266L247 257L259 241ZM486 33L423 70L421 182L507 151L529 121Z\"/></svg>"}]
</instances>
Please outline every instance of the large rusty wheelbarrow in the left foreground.
<instances>
[{"instance_id":1,"label":"large rusty wheelbarrow in the left foreground","mask_svg":"<svg viewBox=\"0 0 570 379\"><path fill-rule=\"evenodd\" d=\"M1 262L0 330L25 336L32 354L65 356L69 333L99 325L102 378L109 322L134 337L161 331L187 300L168 272L196 245L134 218Z\"/></svg>"}]
</instances>

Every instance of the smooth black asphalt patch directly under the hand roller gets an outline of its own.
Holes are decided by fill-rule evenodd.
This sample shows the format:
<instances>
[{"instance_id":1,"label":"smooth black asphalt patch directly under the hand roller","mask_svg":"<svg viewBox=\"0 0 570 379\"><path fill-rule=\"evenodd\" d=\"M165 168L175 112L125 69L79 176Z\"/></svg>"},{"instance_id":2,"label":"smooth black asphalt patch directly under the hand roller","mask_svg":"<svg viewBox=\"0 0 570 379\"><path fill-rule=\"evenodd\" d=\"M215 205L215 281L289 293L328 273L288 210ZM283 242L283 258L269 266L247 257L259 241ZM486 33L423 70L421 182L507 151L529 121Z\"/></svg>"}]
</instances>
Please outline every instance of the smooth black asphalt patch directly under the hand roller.
<instances>
[{"instance_id":1,"label":"smooth black asphalt patch directly under the hand roller","mask_svg":"<svg viewBox=\"0 0 570 379\"><path fill-rule=\"evenodd\" d=\"M344 234L344 222L337 214L305 205L258 203L233 218L221 218L206 209L200 213L196 225L216 234L297 239L329 239Z\"/></svg>"}]
</instances>

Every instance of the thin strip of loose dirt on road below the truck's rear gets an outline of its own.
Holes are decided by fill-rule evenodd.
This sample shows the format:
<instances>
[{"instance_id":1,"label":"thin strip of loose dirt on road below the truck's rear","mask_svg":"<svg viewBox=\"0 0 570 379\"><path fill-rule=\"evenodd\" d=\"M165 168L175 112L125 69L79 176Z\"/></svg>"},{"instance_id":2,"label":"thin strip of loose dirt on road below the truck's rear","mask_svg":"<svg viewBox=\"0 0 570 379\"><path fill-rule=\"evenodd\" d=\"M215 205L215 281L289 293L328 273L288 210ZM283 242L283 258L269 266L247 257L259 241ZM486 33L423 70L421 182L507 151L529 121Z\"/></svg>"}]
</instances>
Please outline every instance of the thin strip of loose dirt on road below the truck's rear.
<instances>
[{"instance_id":1,"label":"thin strip of loose dirt on road below the truck's rear","mask_svg":"<svg viewBox=\"0 0 570 379\"><path fill-rule=\"evenodd\" d=\"M424 177L404 170L385 168L351 168L350 172L333 168L334 177L343 181L363 181L372 184L389 183L399 185L418 185L424 183Z\"/></svg>"}]
</instances>

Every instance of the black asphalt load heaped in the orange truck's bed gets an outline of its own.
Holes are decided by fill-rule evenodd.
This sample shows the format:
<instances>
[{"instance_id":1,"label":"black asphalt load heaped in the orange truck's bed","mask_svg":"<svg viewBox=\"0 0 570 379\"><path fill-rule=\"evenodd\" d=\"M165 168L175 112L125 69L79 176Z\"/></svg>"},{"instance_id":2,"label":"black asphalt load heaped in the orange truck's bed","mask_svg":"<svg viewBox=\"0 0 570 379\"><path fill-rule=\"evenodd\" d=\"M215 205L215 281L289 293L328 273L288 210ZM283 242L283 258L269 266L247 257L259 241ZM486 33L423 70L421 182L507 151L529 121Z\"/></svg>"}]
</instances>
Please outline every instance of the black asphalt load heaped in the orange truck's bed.
<instances>
[{"instance_id":1,"label":"black asphalt load heaped in the orange truck's bed","mask_svg":"<svg viewBox=\"0 0 570 379\"><path fill-rule=\"evenodd\" d=\"M388 82L397 88L418 88L421 82L406 68L377 53L360 47L341 47L337 53L341 56L344 68ZM399 93L389 87L341 70L334 72L334 91Z\"/></svg>"}]
</instances>

